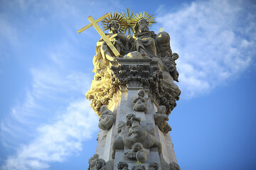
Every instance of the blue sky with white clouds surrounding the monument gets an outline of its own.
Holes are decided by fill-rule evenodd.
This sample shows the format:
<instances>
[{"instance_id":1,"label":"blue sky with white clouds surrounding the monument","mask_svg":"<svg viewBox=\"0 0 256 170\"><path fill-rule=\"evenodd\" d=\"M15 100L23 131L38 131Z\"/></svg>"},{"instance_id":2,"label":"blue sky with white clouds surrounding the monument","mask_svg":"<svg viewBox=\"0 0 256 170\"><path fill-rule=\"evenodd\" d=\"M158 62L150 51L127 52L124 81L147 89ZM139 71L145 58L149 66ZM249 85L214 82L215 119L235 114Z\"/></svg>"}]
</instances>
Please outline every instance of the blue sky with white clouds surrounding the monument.
<instances>
[{"instance_id":1,"label":"blue sky with white clouds surrounding the monument","mask_svg":"<svg viewBox=\"0 0 256 170\"><path fill-rule=\"evenodd\" d=\"M0 169L87 169L85 98L100 35L87 16L149 11L179 54L169 116L181 169L255 169L255 1L0 1Z\"/></svg>"}]
</instances>

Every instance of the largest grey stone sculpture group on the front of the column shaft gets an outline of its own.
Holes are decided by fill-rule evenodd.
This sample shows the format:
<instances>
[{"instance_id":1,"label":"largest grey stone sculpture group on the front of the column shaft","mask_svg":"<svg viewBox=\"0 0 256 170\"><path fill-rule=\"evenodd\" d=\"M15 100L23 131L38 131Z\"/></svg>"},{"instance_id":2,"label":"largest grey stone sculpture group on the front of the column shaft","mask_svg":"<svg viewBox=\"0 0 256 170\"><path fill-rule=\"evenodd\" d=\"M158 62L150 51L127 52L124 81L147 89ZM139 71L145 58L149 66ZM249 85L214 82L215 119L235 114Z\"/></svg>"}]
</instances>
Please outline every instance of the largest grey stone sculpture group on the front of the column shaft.
<instances>
[{"instance_id":1,"label":"largest grey stone sculpture group on the front of the column shaft","mask_svg":"<svg viewBox=\"0 0 256 170\"><path fill-rule=\"evenodd\" d=\"M134 114L129 114L127 115L127 123L119 122L119 125L117 125L119 135L115 137L112 144L112 158L114 158L116 149L124 149L124 147L131 149L136 142L142 143L145 149L157 147L159 154L161 154L161 143L156 140L154 135L149 133L151 132L150 128L141 127L140 121L141 118L136 118Z\"/></svg>"}]
</instances>

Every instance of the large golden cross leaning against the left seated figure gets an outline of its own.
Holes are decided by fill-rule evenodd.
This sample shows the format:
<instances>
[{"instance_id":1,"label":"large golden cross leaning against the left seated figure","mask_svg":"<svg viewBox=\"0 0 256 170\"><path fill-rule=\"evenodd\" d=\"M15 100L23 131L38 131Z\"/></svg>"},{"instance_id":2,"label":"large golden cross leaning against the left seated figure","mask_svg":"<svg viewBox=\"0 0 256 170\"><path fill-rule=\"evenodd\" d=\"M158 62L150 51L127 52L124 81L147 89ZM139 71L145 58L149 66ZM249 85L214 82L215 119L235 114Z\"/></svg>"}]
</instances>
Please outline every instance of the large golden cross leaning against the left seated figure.
<instances>
[{"instance_id":1,"label":"large golden cross leaning against the left seated figure","mask_svg":"<svg viewBox=\"0 0 256 170\"><path fill-rule=\"evenodd\" d=\"M85 27L81 28L80 30L78 30L78 33L81 33L82 31L86 30L87 28L90 28L91 26L94 26L95 30L97 30L97 32L100 34L100 36L103 38L103 40L107 43L107 46L110 47L110 50L112 50L112 52L114 53L114 56L115 57L119 57L120 53L117 51L117 48L114 47L114 45L107 38L107 36L103 32L103 30L100 29L100 26L97 25L98 22L102 21L102 19L106 18L107 16L110 16L110 13L105 14L104 16L98 18L97 20L94 20L92 18L92 16L87 17L88 20L90 21L90 24L88 24L87 26L85 26Z\"/></svg>"}]
</instances>

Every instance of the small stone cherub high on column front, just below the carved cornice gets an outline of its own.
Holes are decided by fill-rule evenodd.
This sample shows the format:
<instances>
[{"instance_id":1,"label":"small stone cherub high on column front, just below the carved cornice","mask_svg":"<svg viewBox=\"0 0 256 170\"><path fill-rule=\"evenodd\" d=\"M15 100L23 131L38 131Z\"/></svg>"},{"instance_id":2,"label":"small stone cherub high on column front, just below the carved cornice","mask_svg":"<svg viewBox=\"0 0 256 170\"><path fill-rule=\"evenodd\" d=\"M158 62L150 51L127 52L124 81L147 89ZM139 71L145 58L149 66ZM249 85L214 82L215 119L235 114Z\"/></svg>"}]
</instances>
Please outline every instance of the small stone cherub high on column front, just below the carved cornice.
<instances>
[{"instance_id":1,"label":"small stone cherub high on column front, just below the carved cornice","mask_svg":"<svg viewBox=\"0 0 256 170\"><path fill-rule=\"evenodd\" d=\"M134 104L134 111L146 111L147 105L146 105L146 99L144 98L145 91L139 90L138 91L138 97L134 98L132 101Z\"/></svg>"}]
</instances>

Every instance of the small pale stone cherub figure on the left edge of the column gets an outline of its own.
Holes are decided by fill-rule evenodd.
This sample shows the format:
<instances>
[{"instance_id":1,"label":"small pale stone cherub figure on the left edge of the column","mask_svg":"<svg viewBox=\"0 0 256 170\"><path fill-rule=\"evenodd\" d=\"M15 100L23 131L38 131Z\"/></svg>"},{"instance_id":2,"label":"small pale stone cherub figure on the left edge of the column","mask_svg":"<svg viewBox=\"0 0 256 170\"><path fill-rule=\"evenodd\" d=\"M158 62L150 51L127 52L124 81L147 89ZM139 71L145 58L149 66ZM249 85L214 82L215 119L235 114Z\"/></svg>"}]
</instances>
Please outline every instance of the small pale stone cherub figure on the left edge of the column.
<instances>
[{"instance_id":1,"label":"small pale stone cherub figure on the left edge of the column","mask_svg":"<svg viewBox=\"0 0 256 170\"><path fill-rule=\"evenodd\" d=\"M107 106L103 105L100 108L100 113L99 128L102 130L110 130L114 123L114 115L112 111L110 111Z\"/></svg>"}]
</instances>

